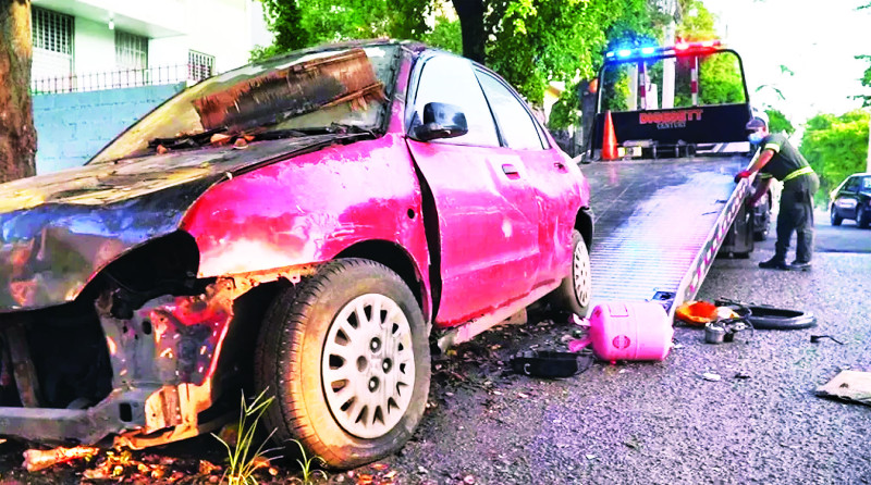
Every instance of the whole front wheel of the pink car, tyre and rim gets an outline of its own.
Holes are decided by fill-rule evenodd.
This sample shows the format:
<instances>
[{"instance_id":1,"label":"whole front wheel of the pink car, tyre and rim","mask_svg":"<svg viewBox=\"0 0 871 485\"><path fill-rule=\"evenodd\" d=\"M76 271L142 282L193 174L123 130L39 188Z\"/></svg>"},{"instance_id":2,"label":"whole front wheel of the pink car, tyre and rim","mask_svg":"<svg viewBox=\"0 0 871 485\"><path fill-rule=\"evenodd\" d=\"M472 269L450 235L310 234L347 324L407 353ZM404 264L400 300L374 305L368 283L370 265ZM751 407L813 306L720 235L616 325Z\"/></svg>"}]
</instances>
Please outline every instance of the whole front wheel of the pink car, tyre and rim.
<instances>
[{"instance_id":1,"label":"whole front wheel of the pink car, tyre and rim","mask_svg":"<svg viewBox=\"0 0 871 485\"><path fill-rule=\"evenodd\" d=\"M373 261L343 259L280 294L255 352L255 385L275 398L273 439L298 440L328 468L398 450L426 409L429 325L406 284Z\"/></svg>"}]
</instances>

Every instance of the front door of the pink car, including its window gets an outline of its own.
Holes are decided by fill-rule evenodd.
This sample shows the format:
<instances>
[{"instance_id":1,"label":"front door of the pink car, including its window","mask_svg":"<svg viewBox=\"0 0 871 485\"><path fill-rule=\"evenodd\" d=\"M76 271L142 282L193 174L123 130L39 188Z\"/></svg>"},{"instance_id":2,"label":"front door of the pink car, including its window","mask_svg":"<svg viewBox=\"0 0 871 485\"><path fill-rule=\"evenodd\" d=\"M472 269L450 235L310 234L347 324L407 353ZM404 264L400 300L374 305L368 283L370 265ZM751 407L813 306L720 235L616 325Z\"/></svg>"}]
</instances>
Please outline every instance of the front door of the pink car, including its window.
<instances>
[{"instance_id":1,"label":"front door of the pink car, including its window","mask_svg":"<svg viewBox=\"0 0 871 485\"><path fill-rule=\"evenodd\" d=\"M429 102L458 107L468 124L455 138L407 138L434 207L428 231L437 229L439 242L431 250L438 269L431 283L441 295L436 321L453 325L530 293L539 264L538 209L524 160L500 144L471 63L438 53L417 64L408 127L422 121Z\"/></svg>"}]
</instances>

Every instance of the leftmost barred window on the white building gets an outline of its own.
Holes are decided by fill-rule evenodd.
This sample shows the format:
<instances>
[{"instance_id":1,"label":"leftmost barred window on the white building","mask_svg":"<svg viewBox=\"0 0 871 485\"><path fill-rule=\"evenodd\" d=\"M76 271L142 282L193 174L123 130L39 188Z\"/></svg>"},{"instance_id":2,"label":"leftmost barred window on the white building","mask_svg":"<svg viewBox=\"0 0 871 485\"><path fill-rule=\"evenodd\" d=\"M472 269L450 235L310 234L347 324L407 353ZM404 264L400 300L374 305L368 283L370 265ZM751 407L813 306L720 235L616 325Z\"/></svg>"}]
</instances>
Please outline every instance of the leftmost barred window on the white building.
<instances>
[{"instance_id":1,"label":"leftmost barred window on the white building","mask_svg":"<svg viewBox=\"0 0 871 485\"><path fill-rule=\"evenodd\" d=\"M70 89L73 72L73 17L51 10L30 8L35 91Z\"/></svg>"}]
</instances>

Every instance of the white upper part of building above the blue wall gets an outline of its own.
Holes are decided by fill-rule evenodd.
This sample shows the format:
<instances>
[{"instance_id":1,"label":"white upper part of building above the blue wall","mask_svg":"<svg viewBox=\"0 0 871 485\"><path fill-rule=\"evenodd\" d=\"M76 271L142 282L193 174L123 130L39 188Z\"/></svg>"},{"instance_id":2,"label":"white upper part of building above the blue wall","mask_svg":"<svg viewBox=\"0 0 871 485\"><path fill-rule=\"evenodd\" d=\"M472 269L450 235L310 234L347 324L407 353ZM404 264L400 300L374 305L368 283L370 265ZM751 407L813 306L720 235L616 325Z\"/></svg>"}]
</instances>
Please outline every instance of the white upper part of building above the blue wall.
<instances>
[{"instance_id":1,"label":"white upper part of building above the blue wall","mask_svg":"<svg viewBox=\"0 0 871 485\"><path fill-rule=\"evenodd\" d=\"M199 80L268 45L257 0L33 0L35 94Z\"/></svg>"}]
</instances>

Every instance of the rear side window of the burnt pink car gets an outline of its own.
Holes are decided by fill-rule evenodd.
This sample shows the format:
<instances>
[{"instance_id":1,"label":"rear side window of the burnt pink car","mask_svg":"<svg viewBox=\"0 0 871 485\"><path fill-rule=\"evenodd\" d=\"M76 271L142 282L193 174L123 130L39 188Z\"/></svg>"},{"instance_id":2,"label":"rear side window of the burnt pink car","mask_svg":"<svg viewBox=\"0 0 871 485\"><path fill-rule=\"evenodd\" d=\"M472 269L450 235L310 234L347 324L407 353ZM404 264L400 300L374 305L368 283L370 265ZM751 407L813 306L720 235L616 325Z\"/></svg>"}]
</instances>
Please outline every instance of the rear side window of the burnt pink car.
<instances>
[{"instance_id":1,"label":"rear side window of the burnt pink car","mask_svg":"<svg viewBox=\"0 0 871 485\"><path fill-rule=\"evenodd\" d=\"M519 150L543 149L544 144L541 141L536 122L520 100L488 73L478 71L478 80L481 82L484 96L490 101L490 108L496 117L505 144Z\"/></svg>"}]
</instances>

